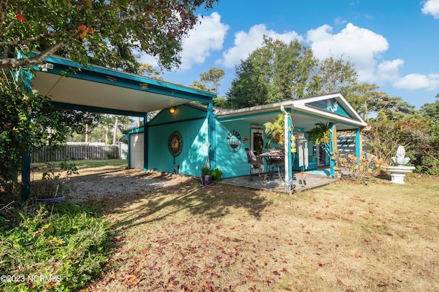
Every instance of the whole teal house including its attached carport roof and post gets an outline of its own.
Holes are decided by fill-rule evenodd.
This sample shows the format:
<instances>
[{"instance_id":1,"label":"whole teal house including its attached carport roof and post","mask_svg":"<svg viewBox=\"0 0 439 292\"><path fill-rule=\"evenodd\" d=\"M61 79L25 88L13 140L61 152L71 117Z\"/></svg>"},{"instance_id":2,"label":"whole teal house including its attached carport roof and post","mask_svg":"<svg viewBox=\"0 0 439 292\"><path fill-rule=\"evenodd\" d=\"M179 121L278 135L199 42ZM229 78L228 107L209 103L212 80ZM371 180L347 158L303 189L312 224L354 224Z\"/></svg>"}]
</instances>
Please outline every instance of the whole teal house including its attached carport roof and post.
<instances>
[{"instance_id":1,"label":"whole teal house including its attached carport roof and post","mask_svg":"<svg viewBox=\"0 0 439 292\"><path fill-rule=\"evenodd\" d=\"M69 72L69 76L65 73ZM83 67L51 55L36 67L32 90L49 96L59 108L138 116L160 110L143 127L127 131L128 167L199 176L206 163L226 178L250 173L246 148L265 152L265 122L285 117L285 137L297 137L298 152L287 148L285 173L326 165L334 173L330 151L309 142L317 122L332 133L350 131L355 155L361 150L360 129L366 122L342 94L326 94L244 109L213 107L215 94L182 85L132 75L101 66ZM196 102L196 103L194 103ZM335 147L331 140L330 150ZM23 193L29 194L30 160L23 157ZM26 196L26 195L25 195Z\"/></svg>"}]
</instances>

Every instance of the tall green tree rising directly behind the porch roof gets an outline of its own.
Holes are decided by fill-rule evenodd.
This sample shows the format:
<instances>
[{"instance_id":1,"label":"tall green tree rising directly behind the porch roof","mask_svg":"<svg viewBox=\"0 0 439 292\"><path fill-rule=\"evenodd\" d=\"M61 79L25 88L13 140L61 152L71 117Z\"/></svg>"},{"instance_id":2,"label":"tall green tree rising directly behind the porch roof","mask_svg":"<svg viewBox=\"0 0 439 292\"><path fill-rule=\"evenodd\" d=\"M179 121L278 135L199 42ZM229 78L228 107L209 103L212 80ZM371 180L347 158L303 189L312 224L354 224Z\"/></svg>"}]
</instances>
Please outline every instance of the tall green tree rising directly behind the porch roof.
<instances>
[{"instance_id":1,"label":"tall green tree rising directly behind the porch roof","mask_svg":"<svg viewBox=\"0 0 439 292\"><path fill-rule=\"evenodd\" d=\"M237 65L228 98L239 108L305 97L317 64L312 50L297 40L264 37L263 46Z\"/></svg>"}]
</instances>

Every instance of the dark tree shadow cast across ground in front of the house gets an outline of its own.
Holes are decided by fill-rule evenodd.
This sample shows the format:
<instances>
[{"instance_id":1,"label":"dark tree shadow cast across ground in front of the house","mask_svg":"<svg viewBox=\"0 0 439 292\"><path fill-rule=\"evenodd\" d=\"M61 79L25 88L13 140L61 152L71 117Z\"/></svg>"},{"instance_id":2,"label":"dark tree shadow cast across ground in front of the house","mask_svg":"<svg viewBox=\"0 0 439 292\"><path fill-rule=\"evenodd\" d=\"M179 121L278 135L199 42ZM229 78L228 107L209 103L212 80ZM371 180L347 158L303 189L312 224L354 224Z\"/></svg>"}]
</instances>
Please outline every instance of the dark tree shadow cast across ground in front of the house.
<instances>
[{"instance_id":1,"label":"dark tree shadow cast across ground in front of the house","mask_svg":"<svg viewBox=\"0 0 439 292\"><path fill-rule=\"evenodd\" d=\"M199 178L168 178L164 173L148 172L121 177L128 185L130 180L143 180L145 185L139 191L146 191L91 202L102 215L117 216L116 228L157 222L168 217L181 220L176 218L179 214L189 220L190 215L202 215L213 219L227 215L230 209L241 209L242 212L259 219L261 212L271 204L259 190L220 183L203 187ZM101 184L112 183L102 175L96 176L96 179L101 180Z\"/></svg>"}]
</instances>

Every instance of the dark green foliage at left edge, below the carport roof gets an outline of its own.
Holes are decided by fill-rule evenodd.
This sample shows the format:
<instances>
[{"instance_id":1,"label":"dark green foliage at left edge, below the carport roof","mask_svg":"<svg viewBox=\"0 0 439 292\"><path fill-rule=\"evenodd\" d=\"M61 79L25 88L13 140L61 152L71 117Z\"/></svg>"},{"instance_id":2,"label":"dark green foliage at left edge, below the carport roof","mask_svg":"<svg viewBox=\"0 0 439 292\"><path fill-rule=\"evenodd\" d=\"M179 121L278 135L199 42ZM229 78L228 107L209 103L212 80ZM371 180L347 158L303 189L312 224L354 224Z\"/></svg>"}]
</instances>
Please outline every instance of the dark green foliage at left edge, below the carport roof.
<instances>
[{"instance_id":1,"label":"dark green foliage at left edge, below the carport roof","mask_svg":"<svg viewBox=\"0 0 439 292\"><path fill-rule=\"evenodd\" d=\"M29 92L17 81L19 75L0 71L0 192L14 189L21 170L21 157L31 147L65 141L78 124L66 124L61 111L54 111L49 98ZM53 131L47 131L47 129ZM8 188L8 187L7 187Z\"/></svg>"}]
</instances>

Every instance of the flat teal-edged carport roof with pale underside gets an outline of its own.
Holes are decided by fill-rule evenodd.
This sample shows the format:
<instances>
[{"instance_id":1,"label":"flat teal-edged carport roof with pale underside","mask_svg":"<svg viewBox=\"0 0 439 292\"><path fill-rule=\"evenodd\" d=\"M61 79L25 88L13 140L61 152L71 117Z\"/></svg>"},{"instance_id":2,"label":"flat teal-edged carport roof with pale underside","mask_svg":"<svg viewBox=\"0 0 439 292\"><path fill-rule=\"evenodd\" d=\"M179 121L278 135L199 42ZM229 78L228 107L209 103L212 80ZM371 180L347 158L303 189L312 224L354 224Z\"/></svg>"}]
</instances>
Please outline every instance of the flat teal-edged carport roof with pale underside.
<instances>
[{"instance_id":1,"label":"flat teal-edged carport roof with pale underside","mask_svg":"<svg viewBox=\"0 0 439 292\"><path fill-rule=\"evenodd\" d=\"M101 66L83 67L52 55L38 66L32 89L57 106L126 116L175 107L190 101L211 103L215 94ZM66 77L64 72L69 72Z\"/></svg>"}]
</instances>

